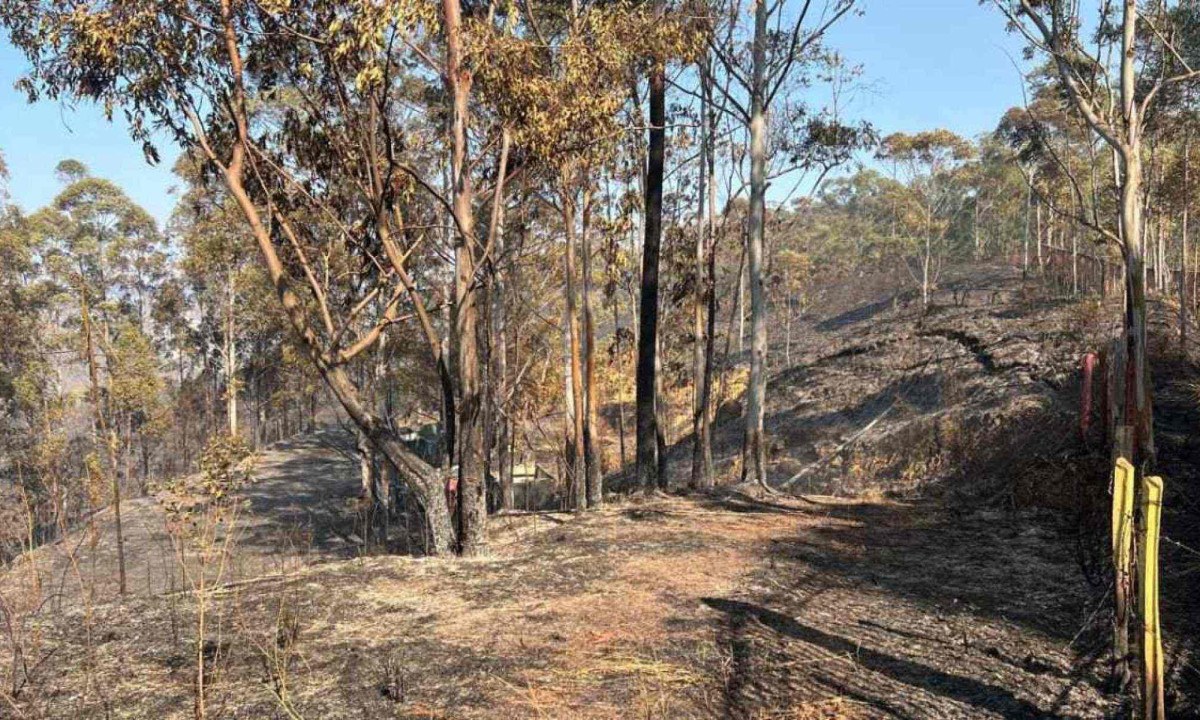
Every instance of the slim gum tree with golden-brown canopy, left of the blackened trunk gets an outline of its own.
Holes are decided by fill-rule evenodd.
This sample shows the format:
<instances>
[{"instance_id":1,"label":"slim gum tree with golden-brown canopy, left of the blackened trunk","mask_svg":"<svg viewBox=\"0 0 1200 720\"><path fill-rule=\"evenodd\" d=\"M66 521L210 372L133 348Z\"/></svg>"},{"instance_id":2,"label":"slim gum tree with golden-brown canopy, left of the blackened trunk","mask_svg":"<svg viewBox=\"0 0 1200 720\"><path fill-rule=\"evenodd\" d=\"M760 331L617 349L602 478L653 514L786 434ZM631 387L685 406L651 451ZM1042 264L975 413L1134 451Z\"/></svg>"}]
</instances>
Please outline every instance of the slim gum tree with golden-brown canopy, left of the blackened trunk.
<instances>
[{"instance_id":1,"label":"slim gum tree with golden-brown canopy, left of the blackened trunk","mask_svg":"<svg viewBox=\"0 0 1200 720\"><path fill-rule=\"evenodd\" d=\"M582 509L604 497L590 298L592 184L613 163L626 132L620 109L629 86L647 67L695 53L701 36L646 7L574 7L558 22L535 12L530 7L520 23L481 37L476 53L487 56L478 72L481 94L510 128L527 172L548 179L546 203L562 221L569 494L572 506Z\"/></svg>"}]
</instances>

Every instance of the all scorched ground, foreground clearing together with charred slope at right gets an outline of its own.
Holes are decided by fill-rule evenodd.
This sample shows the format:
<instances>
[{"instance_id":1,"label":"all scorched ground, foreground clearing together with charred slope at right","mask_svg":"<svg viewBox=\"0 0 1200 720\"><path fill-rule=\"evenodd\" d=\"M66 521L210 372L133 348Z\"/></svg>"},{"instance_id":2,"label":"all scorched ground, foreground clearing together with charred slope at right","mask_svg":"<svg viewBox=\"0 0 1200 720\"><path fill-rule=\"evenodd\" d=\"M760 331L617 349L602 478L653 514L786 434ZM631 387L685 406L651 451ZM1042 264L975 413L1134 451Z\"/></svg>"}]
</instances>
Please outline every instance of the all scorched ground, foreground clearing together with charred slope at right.
<instances>
[{"instance_id":1,"label":"all scorched ground, foreground clearing together with charred slope at right","mask_svg":"<svg viewBox=\"0 0 1200 720\"><path fill-rule=\"evenodd\" d=\"M1073 416L1103 308L1032 295L1004 269L950 274L924 316L902 290L826 301L768 407L772 480L806 470L797 496L613 497L500 516L481 559L371 557L336 433L264 454L208 594L209 716L1121 716L1103 691L1105 582L1081 562L1098 536L1078 511L1103 505L1103 464ZM1182 718L1198 697L1200 413L1196 368L1156 358ZM155 500L126 516L124 599L106 514L95 542L67 538L0 578L0 718L192 716L194 551L185 577Z\"/></svg>"}]
</instances>

